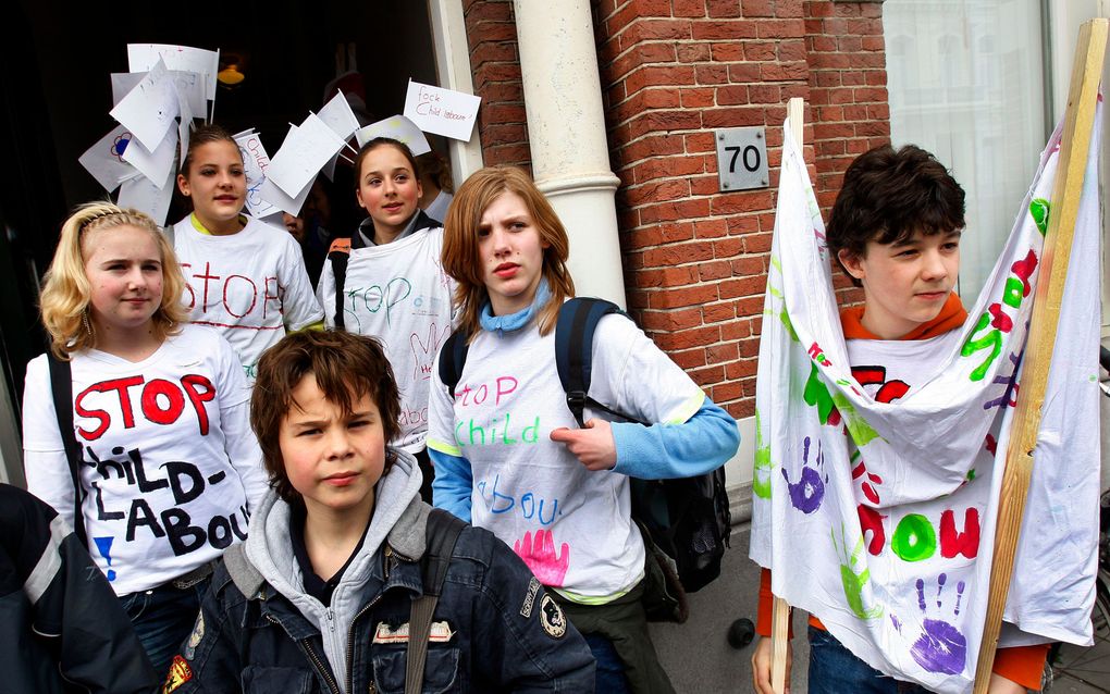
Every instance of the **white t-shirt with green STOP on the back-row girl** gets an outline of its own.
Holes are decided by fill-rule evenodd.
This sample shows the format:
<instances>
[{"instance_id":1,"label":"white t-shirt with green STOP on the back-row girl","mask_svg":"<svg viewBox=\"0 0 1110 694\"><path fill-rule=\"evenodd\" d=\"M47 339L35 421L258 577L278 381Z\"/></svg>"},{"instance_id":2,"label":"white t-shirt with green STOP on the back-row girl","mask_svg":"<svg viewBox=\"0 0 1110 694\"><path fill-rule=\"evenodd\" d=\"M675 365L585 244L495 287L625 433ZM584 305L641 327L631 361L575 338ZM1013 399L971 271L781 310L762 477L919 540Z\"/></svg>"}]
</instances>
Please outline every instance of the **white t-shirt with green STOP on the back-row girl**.
<instances>
[{"instance_id":1,"label":"white t-shirt with green STOP on the back-row girl","mask_svg":"<svg viewBox=\"0 0 1110 694\"><path fill-rule=\"evenodd\" d=\"M454 282L443 272L443 228L417 230L384 245L352 249L343 282L347 332L382 341L401 390L401 435L393 445L424 449L427 384L451 334ZM316 288L326 324L335 326L335 275L324 263Z\"/></svg>"}]
</instances>

